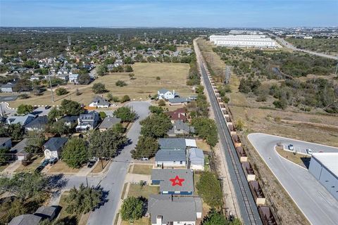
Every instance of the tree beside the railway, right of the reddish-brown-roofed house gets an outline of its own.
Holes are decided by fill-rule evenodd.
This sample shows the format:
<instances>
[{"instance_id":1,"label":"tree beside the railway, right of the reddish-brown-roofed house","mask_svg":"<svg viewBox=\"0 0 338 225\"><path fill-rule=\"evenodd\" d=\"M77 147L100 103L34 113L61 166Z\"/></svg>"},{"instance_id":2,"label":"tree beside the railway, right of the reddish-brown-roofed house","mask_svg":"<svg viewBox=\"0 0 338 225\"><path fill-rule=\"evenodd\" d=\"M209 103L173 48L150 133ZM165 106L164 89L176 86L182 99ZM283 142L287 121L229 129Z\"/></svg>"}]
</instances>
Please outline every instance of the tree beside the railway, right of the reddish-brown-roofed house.
<instances>
[{"instance_id":1,"label":"tree beside the railway, right of the reddish-brown-roofed house","mask_svg":"<svg viewBox=\"0 0 338 225\"><path fill-rule=\"evenodd\" d=\"M192 125L195 128L195 133L199 138L206 140L211 146L218 143L218 131L214 120L206 117L196 117L192 120Z\"/></svg>"}]
</instances>

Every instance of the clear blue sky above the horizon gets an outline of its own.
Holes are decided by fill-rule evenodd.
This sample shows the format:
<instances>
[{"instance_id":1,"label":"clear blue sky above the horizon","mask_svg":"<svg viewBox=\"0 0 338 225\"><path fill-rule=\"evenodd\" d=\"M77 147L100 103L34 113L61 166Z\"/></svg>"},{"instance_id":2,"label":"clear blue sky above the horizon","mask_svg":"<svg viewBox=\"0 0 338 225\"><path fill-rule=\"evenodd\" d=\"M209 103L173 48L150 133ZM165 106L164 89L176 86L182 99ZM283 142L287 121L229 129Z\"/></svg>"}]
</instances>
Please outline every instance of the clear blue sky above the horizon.
<instances>
[{"instance_id":1,"label":"clear blue sky above the horizon","mask_svg":"<svg viewBox=\"0 0 338 225\"><path fill-rule=\"evenodd\" d=\"M338 0L0 0L1 27L327 27Z\"/></svg>"}]
</instances>

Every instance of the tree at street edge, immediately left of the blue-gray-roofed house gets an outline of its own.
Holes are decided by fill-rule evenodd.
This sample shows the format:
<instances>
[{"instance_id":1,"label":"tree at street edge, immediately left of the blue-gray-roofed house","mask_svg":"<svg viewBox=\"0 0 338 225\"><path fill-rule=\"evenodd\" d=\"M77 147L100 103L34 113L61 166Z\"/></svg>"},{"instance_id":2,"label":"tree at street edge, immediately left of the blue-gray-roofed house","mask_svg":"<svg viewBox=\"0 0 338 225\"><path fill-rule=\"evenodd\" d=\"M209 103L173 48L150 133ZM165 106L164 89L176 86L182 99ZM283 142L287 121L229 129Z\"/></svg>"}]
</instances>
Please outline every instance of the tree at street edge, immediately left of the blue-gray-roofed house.
<instances>
[{"instance_id":1,"label":"tree at street edge, immediately left of the blue-gray-roofed house","mask_svg":"<svg viewBox=\"0 0 338 225\"><path fill-rule=\"evenodd\" d=\"M151 158L158 151L158 142L151 136L140 136L135 149L132 150L132 158Z\"/></svg>"}]
</instances>

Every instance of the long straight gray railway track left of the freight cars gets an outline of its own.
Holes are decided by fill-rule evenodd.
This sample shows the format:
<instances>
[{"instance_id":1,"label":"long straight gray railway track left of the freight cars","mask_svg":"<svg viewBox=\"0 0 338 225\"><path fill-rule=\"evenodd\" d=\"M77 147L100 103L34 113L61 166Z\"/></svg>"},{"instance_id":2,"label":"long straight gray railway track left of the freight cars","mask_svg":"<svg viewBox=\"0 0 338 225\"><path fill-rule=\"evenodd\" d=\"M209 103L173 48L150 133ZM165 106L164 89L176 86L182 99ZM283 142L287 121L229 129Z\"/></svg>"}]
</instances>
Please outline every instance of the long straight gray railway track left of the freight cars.
<instances>
[{"instance_id":1,"label":"long straight gray railway track left of the freight cars","mask_svg":"<svg viewBox=\"0 0 338 225\"><path fill-rule=\"evenodd\" d=\"M199 47L194 40L194 50L196 52L197 62L199 63L199 68L201 69L202 79L204 81L204 86L206 91L208 91L208 96L211 101L211 107L215 114L215 122L218 127L218 134L220 137L220 146L223 148L225 153L225 160L227 161L228 171L230 173L230 178L234 185L234 191L237 197L237 202L239 205L240 214L242 216L242 221L244 224L262 224L261 218L259 217L256 204L251 195L249 189L249 184L246 181L242 165L237 158L237 153L232 143L230 132L227 129L227 124L223 117L223 113L220 110L218 101L213 93L213 87L208 80L208 75L204 63L202 60L201 52Z\"/></svg>"}]
</instances>

